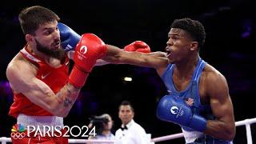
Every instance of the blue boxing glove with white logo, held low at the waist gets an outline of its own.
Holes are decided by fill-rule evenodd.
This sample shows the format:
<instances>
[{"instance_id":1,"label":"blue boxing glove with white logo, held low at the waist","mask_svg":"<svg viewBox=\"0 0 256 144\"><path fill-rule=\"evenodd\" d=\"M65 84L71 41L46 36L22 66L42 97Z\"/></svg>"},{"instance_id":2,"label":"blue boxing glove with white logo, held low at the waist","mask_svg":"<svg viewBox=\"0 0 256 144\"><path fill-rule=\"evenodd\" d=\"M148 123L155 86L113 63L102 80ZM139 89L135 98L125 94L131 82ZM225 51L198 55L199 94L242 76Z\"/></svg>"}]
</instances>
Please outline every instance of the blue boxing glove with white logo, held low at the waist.
<instances>
[{"instance_id":1,"label":"blue boxing glove with white logo, held low at the waist","mask_svg":"<svg viewBox=\"0 0 256 144\"><path fill-rule=\"evenodd\" d=\"M162 97L158 102L157 116L162 121L174 122L201 132L206 130L206 118L193 114L182 98L170 95Z\"/></svg>"}]
</instances>

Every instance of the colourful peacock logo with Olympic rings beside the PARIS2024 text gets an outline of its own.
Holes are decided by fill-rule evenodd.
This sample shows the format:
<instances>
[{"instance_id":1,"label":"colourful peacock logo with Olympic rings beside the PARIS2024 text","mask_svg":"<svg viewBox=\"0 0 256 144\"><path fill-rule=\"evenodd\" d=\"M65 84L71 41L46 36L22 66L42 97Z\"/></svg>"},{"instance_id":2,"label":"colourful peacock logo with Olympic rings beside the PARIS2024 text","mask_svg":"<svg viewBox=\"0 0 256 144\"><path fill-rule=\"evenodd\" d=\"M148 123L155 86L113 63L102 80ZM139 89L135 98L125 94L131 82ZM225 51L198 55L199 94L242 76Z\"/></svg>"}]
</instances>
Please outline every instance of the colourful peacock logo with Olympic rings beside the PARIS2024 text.
<instances>
[{"instance_id":1,"label":"colourful peacock logo with Olympic rings beside the PARIS2024 text","mask_svg":"<svg viewBox=\"0 0 256 144\"><path fill-rule=\"evenodd\" d=\"M24 126L22 124L15 124L11 129L10 136L14 139L24 138L26 136Z\"/></svg>"}]
</instances>

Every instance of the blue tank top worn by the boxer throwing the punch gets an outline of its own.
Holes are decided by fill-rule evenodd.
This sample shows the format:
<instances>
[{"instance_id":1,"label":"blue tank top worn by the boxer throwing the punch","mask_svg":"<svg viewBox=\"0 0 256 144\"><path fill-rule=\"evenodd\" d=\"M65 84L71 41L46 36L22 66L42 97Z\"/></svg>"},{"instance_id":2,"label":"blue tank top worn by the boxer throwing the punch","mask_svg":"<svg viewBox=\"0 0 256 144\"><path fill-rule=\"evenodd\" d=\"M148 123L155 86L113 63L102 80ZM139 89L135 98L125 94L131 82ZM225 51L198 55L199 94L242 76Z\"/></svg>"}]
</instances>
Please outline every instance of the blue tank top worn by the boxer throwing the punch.
<instances>
[{"instance_id":1,"label":"blue tank top worn by the boxer throwing the punch","mask_svg":"<svg viewBox=\"0 0 256 144\"><path fill-rule=\"evenodd\" d=\"M194 114L202 115L206 119L214 119L214 115L210 110L210 105L202 105L200 102L200 95L199 95L199 78L202 74L202 70L206 66L206 62L199 58L198 64L194 69L194 74L190 79L189 85L186 87L185 90L178 91L176 90L173 82L173 73L174 73L174 64L169 64L166 68L166 71L162 75L162 80L166 84L167 90L170 95L177 96L183 98L184 100L188 98L194 99L194 104L191 106L191 109ZM184 130L194 131L188 127L182 126Z\"/></svg>"}]
</instances>

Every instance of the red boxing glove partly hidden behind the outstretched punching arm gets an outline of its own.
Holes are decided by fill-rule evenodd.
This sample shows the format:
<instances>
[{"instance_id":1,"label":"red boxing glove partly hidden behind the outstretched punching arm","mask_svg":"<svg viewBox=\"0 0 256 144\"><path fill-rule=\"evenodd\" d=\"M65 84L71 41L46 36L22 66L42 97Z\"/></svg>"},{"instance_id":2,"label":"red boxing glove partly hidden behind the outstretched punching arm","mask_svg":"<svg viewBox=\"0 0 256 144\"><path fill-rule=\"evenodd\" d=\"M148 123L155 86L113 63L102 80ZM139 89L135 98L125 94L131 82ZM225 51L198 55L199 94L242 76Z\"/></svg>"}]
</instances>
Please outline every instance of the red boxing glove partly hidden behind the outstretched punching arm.
<instances>
[{"instance_id":1,"label":"red boxing glove partly hidden behind the outstretched punching arm","mask_svg":"<svg viewBox=\"0 0 256 144\"><path fill-rule=\"evenodd\" d=\"M150 46L146 44L146 42L142 41L135 41L132 42L130 45L125 46L124 50L126 51L138 51L142 53L150 53Z\"/></svg>"}]
</instances>

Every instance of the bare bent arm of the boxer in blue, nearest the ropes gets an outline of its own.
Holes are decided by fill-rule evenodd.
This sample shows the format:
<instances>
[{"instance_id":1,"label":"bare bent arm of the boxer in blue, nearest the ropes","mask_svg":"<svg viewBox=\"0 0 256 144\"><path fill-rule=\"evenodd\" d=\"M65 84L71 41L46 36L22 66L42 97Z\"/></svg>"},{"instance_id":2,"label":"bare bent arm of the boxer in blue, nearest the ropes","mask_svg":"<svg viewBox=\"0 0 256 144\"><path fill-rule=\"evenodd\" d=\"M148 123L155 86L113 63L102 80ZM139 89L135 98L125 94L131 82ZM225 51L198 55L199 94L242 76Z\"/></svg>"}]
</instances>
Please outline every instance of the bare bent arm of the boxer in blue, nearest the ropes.
<instances>
[{"instance_id":1,"label":"bare bent arm of the boxer in blue, nearest the ropes","mask_svg":"<svg viewBox=\"0 0 256 144\"><path fill-rule=\"evenodd\" d=\"M211 72L206 78L206 90L216 120L207 121L205 133L232 140L235 134L234 110L226 78L220 73Z\"/></svg>"}]
</instances>

